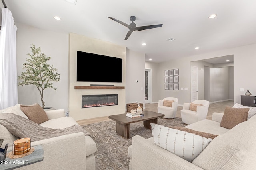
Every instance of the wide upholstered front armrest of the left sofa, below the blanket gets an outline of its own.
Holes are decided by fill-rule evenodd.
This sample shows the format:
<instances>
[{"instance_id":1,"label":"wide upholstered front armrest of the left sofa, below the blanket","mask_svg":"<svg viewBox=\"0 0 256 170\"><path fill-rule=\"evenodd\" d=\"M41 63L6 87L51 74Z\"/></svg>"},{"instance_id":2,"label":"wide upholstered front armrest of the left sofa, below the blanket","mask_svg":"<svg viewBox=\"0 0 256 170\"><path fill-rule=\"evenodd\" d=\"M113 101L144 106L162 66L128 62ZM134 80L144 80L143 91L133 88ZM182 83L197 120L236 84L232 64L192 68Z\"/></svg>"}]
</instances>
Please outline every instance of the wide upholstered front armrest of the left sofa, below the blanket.
<instances>
[{"instance_id":1,"label":"wide upholstered front armrest of the left sofa, below the blanket","mask_svg":"<svg viewBox=\"0 0 256 170\"><path fill-rule=\"evenodd\" d=\"M44 160L28 169L86 169L82 132L31 142L31 147L36 145L44 145Z\"/></svg>"}]
</instances>

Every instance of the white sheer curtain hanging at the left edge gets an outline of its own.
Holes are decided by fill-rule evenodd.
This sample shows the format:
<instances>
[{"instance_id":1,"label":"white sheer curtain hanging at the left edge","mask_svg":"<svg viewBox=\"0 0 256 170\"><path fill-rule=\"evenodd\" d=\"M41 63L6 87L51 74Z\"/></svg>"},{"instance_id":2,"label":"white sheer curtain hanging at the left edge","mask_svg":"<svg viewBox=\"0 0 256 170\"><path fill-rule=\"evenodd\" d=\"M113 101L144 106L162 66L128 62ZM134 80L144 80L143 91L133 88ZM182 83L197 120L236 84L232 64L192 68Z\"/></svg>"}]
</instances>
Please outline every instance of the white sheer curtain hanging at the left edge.
<instances>
[{"instance_id":1,"label":"white sheer curtain hanging at the left edge","mask_svg":"<svg viewBox=\"0 0 256 170\"><path fill-rule=\"evenodd\" d=\"M0 41L0 109L18 104L16 31L12 12L2 8Z\"/></svg>"}]
</instances>

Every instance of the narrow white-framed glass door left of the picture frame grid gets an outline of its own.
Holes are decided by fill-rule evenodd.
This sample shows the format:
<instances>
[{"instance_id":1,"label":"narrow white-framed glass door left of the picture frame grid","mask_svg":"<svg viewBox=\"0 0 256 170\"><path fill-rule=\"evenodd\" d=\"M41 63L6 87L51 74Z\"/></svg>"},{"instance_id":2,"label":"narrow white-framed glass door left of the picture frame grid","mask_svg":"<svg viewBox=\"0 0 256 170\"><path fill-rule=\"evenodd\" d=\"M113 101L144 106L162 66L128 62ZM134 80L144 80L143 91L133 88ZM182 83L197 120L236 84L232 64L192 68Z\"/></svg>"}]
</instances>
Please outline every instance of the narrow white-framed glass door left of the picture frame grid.
<instances>
[{"instance_id":1,"label":"narrow white-framed glass door left of the picture frame grid","mask_svg":"<svg viewBox=\"0 0 256 170\"><path fill-rule=\"evenodd\" d=\"M145 69L145 103L151 103L151 69Z\"/></svg>"}]
</instances>

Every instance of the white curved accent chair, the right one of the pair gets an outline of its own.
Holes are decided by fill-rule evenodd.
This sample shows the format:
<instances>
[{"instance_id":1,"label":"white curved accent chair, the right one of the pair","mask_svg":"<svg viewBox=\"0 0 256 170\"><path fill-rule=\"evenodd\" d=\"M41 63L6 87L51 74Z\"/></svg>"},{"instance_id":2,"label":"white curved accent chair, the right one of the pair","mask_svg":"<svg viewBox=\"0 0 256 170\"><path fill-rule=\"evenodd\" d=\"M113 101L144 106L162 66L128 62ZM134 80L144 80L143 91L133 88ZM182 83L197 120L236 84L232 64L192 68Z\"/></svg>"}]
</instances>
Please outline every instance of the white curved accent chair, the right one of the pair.
<instances>
[{"instance_id":1,"label":"white curved accent chair, the right one of the pair","mask_svg":"<svg viewBox=\"0 0 256 170\"><path fill-rule=\"evenodd\" d=\"M207 100L195 100L194 104L202 104L197 106L196 111L190 110L191 103L184 103L183 109L180 111L182 122L190 125L200 120L206 119L210 102Z\"/></svg>"}]
</instances>

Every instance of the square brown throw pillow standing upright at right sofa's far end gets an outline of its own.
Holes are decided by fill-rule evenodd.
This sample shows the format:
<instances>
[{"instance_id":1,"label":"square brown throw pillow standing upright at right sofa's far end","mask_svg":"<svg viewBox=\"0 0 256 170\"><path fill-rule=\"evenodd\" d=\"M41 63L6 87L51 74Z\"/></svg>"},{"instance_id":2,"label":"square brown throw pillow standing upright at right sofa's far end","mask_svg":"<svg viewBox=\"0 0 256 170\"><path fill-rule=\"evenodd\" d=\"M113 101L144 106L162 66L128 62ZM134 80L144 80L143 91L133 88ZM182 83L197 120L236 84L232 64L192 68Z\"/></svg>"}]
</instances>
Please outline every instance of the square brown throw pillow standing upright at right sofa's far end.
<instances>
[{"instance_id":1,"label":"square brown throw pillow standing upright at right sofa's far end","mask_svg":"<svg viewBox=\"0 0 256 170\"><path fill-rule=\"evenodd\" d=\"M221 127L232 129L234 126L247 121L249 108L232 108L226 107L222 120L220 122Z\"/></svg>"}]
</instances>

